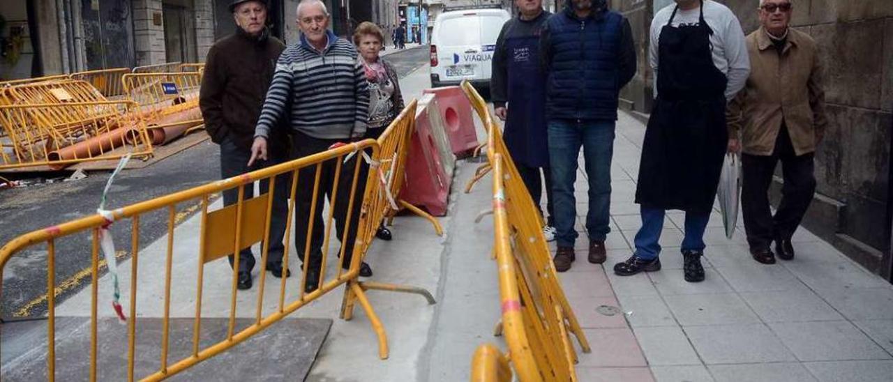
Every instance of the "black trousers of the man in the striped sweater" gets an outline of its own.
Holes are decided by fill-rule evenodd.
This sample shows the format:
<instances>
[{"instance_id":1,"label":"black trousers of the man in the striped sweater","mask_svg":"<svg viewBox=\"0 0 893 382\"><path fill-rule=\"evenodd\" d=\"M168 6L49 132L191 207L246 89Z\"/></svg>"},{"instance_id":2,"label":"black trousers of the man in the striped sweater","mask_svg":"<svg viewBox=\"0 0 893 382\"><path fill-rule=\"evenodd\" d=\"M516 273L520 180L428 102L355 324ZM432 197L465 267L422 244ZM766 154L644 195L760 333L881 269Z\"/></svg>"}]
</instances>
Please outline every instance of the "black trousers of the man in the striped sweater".
<instances>
[{"instance_id":1,"label":"black trousers of the man in the striped sweater","mask_svg":"<svg viewBox=\"0 0 893 382\"><path fill-rule=\"evenodd\" d=\"M300 132L292 132L293 152L296 158L307 155L317 154L329 149L330 145L338 142L345 142L345 139L320 139L307 136ZM322 209L324 201L329 200L329 205L334 212L333 220L335 220L335 230L338 234L338 240L342 240L341 249L344 250L344 266L350 264L350 260L354 251L354 242L356 238L357 226L359 225L360 209L363 204L363 181L357 181L357 189L354 195L354 208L348 214L348 206L351 202L351 186L354 182L354 170L357 157L354 155L347 162L342 162L340 175L338 176L338 193L332 198L332 187L335 182L335 175L338 166L337 160L330 160L321 164L320 184L316 192L316 208L311 216L311 207L313 206L313 180L316 177L315 165L305 167L299 171L296 203L295 203L295 247L297 253L304 261L305 249L307 245L307 228L313 222L313 234L310 239L310 256L309 267L319 267L322 260L322 243L325 239L325 220L328 215L323 218ZM343 161L343 160L342 160ZM363 180L363 179L361 179ZM347 219L350 219L350 228L346 232ZM346 233L346 239L345 239ZM331 245L330 245L331 246ZM329 256L341 253L328 250ZM328 262L332 262L335 257L330 257Z\"/></svg>"}]
</instances>

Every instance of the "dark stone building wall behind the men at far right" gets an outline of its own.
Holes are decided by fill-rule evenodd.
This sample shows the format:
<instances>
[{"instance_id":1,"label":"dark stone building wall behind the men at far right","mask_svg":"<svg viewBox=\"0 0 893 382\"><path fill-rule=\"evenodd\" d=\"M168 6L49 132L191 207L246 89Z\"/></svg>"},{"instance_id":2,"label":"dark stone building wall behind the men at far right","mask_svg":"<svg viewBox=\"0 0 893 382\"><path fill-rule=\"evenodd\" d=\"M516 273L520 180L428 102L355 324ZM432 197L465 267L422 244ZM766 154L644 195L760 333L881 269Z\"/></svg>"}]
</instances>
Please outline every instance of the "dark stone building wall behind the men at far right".
<instances>
[{"instance_id":1,"label":"dark stone building wall behind the men at far right","mask_svg":"<svg viewBox=\"0 0 893 382\"><path fill-rule=\"evenodd\" d=\"M672 0L612 0L632 23L636 78L624 106L647 118L654 94L648 29ZM759 27L756 0L720 0L746 33ZM891 268L890 146L893 138L893 1L792 0L792 25L814 37L825 65L829 130L815 156L818 191L804 226L887 278ZM780 195L780 179L773 200Z\"/></svg>"}]
</instances>

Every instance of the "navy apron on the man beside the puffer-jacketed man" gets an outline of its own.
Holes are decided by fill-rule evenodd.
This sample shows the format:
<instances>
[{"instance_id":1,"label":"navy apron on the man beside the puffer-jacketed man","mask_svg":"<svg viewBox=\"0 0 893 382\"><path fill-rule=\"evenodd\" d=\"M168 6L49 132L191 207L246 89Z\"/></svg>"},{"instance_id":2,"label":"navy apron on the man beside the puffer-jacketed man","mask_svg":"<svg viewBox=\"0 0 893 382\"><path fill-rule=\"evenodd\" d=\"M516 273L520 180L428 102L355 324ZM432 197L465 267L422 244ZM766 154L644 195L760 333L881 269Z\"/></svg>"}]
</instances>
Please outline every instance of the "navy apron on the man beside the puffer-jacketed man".
<instances>
[{"instance_id":1,"label":"navy apron on the man beside the puffer-jacketed man","mask_svg":"<svg viewBox=\"0 0 893 382\"><path fill-rule=\"evenodd\" d=\"M508 119L505 146L514 162L549 167L546 76L539 67L539 36L505 39L508 55Z\"/></svg>"}]
</instances>

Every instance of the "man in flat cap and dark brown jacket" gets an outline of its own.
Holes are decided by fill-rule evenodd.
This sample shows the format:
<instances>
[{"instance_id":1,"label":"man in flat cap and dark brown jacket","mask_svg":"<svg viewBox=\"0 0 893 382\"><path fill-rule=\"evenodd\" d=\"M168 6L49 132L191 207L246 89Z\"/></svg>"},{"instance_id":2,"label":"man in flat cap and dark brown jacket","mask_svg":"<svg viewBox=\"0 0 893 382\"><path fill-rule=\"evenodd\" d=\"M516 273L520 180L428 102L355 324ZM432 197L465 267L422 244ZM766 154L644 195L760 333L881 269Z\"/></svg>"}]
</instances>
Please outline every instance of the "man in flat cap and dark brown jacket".
<instances>
[{"instance_id":1,"label":"man in flat cap and dark brown jacket","mask_svg":"<svg viewBox=\"0 0 893 382\"><path fill-rule=\"evenodd\" d=\"M258 170L288 159L288 137L277 131L272 139L267 158L249 163L251 144L255 135L257 118L261 114L263 97L276 69L285 45L270 36L266 27L266 0L235 0L230 12L236 21L236 33L217 41L205 59L199 107L204 118L204 130L213 143L221 147L221 178ZM273 191L270 214L270 246L266 269L273 276L282 275L282 256L285 248L282 238L288 217L288 179L277 179ZM261 182L261 194L269 191L269 182ZM244 187L244 197L254 196L254 184ZM238 188L223 191L223 205L238 202ZM234 256L230 254L230 265ZM255 256L251 247L238 254L238 288L251 287L251 270ZM286 270L288 276L288 270Z\"/></svg>"}]
</instances>

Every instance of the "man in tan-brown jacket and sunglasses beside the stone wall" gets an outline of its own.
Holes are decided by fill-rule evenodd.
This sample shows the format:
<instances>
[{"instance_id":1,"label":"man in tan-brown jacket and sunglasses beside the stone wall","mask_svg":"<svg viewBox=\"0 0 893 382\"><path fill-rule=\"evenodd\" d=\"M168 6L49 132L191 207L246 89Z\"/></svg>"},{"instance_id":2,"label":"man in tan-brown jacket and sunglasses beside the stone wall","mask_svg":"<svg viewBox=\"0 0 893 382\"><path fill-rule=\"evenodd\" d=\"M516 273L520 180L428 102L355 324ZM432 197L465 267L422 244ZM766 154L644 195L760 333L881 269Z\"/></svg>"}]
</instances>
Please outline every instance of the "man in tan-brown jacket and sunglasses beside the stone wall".
<instances>
[{"instance_id":1,"label":"man in tan-brown jacket and sunglasses beside the stone wall","mask_svg":"<svg viewBox=\"0 0 893 382\"><path fill-rule=\"evenodd\" d=\"M814 152L828 120L815 41L789 29L790 0L761 0L762 26L747 36L750 77L728 109L729 150L743 151L741 207L754 260L794 258L791 236L815 192ZM740 137L740 141L738 139ZM775 215L768 190L781 162L784 186Z\"/></svg>"}]
</instances>

